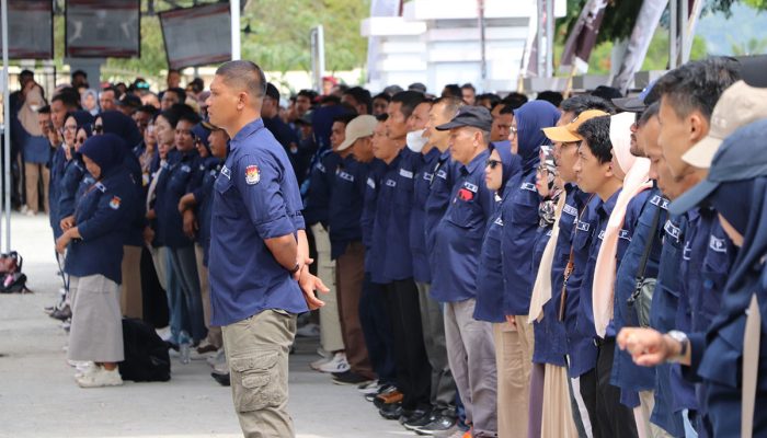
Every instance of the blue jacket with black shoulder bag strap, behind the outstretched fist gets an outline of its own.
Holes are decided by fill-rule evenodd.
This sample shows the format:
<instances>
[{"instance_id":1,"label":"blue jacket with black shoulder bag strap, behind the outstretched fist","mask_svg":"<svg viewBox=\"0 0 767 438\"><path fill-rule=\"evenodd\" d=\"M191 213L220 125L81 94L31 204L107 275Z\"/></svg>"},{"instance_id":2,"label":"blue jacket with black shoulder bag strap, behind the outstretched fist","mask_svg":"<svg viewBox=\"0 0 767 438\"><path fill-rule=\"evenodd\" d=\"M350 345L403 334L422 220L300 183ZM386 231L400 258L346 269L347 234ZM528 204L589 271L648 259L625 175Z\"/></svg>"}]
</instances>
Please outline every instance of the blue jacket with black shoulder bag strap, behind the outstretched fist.
<instances>
[{"instance_id":1,"label":"blue jacket with black shoulder bag strap, behind the outstretched fist","mask_svg":"<svg viewBox=\"0 0 767 438\"><path fill-rule=\"evenodd\" d=\"M667 208L668 199L665 199L659 189L653 189L644 203L644 208L637 221L631 243L626 250L623 260L618 266L616 274L614 307L616 331L620 331L625 326L639 326L637 310L633 307L629 307L628 300L637 288L637 272L640 268L649 239L653 239L654 243L644 268L644 277L657 278L657 267L663 246L663 224L668 215ZM653 228L653 220L656 215L657 224ZM649 391L654 388L655 370L636 365L628 351L621 350L616 346L610 383L621 389L621 399L626 402L629 397L633 399L637 392Z\"/></svg>"}]
</instances>

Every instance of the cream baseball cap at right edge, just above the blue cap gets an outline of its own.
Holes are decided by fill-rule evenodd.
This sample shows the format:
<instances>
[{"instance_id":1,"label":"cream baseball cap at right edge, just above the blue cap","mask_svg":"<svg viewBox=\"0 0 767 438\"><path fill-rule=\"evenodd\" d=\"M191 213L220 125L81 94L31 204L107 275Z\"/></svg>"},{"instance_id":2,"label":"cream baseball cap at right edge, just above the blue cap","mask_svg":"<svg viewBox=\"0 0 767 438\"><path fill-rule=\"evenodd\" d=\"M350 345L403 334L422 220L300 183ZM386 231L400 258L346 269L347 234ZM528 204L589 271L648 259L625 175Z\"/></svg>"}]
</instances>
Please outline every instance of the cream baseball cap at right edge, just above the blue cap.
<instances>
[{"instance_id":1,"label":"cream baseball cap at right edge, just above the blue cap","mask_svg":"<svg viewBox=\"0 0 767 438\"><path fill-rule=\"evenodd\" d=\"M767 89L749 87L744 81L733 83L724 90L713 107L709 134L682 159L696 168L708 169L729 135L760 118L767 118Z\"/></svg>"}]
</instances>

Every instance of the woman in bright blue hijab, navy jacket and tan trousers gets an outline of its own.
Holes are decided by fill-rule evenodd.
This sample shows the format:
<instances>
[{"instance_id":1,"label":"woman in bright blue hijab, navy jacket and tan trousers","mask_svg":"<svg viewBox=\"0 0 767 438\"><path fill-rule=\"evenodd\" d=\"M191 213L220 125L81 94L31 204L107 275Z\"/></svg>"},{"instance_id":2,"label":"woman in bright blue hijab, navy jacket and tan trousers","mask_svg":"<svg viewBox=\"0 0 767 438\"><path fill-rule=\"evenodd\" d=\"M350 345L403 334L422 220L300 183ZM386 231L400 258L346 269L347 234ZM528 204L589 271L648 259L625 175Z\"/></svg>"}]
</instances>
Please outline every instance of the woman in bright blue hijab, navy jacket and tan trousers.
<instances>
[{"instance_id":1,"label":"woman in bright blue hijab, navy jacket and tan trousers","mask_svg":"<svg viewBox=\"0 0 767 438\"><path fill-rule=\"evenodd\" d=\"M504 364L504 372L497 378L500 437L524 437L528 433L527 415L520 417L515 412L527 413L529 406L534 334L526 320L537 270L533 251L541 200L536 189L536 172L540 146L549 145L541 129L557 125L559 116L559 110L549 102L528 102L514 112L508 136L512 152L522 159L522 173L517 184L505 188L510 193L502 207L501 260L506 322L501 330L502 342L496 343L496 356L501 356Z\"/></svg>"}]
</instances>

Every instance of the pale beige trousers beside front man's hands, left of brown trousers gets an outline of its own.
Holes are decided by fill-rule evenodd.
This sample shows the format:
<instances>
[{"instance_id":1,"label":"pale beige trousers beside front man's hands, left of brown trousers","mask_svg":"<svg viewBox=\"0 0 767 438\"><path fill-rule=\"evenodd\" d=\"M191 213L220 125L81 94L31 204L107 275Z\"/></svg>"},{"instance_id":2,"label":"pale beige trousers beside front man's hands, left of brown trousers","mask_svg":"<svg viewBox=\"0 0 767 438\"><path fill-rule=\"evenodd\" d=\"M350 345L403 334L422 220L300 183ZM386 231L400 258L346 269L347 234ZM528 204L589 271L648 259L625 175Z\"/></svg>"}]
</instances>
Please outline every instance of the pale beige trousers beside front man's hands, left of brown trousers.
<instances>
[{"instance_id":1,"label":"pale beige trousers beside front man's hands, left of brown trousers","mask_svg":"<svg viewBox=\"0 0 767 438\"><path fill-rule=\"evenodd\" d=\"M335 288L335 263L330 260L330 234L321 223L311 226L317 245L317 276L330 288L320 299L325 306L320 308L320 345L325 351L342 351L344 339L341 334L337 291Z\"/></svg>"}]
</instances>

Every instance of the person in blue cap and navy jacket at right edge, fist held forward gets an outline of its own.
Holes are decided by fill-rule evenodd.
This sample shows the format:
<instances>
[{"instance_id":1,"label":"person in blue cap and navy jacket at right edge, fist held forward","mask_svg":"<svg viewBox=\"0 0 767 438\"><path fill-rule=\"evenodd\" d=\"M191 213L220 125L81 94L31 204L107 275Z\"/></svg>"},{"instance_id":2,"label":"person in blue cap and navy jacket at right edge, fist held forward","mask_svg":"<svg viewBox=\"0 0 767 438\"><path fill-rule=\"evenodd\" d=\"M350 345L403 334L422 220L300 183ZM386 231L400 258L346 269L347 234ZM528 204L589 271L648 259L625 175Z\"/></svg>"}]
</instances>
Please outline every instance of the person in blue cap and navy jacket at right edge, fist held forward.
<instances>
[{"instance_id":1,"label":"person in blue cap and navy jacket at right edge, fist held forward","mask_svg":"<svg viewBox=\"0 0 767 438\"><path fill-rule=\"evenodd\" d=\"M706 181L674 200L672 214L708 203L740 246L719 313L706 333L623 328L618 345L634 362L678 362L685 377L702 379L712 435L767 434L767 120L736 130L713 158Z\"/></svg>"}]
</instances>

